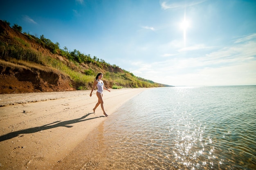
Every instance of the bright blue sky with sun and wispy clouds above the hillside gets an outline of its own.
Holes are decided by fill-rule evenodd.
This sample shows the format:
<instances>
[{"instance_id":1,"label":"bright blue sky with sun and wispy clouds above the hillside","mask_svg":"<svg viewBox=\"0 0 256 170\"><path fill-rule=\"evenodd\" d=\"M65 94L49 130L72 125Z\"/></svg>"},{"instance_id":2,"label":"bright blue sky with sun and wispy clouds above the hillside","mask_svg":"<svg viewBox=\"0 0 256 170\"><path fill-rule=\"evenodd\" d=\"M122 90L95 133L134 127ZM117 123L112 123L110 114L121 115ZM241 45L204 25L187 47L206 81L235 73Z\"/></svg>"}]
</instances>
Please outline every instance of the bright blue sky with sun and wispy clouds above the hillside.
<instances>
[{"instance_id":1,"label":"bright blue sky with sun and wispy clouds above the hillside","mask_svg":"<svg viewBox=\"0 0 256 170\"><path fill-rule=\"evenodd\" d=\"M173 86L256 85L255 0L8 0L0 19Z\"/></svg>"}]
</instances>

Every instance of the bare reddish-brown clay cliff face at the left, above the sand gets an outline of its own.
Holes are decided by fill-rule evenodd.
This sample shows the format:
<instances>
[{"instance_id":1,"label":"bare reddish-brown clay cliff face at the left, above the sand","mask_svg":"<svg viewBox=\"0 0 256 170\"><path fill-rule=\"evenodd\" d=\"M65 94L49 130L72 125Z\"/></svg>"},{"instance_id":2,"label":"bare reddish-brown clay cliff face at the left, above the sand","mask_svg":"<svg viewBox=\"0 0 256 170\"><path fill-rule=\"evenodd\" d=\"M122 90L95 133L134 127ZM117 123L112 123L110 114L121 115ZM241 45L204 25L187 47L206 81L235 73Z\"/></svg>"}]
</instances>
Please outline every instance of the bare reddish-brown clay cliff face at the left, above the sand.
<instances>
[{"instance_id":1,"label":"bare reddish-brown clay cliff face at the left, above the sand","mask_svg":"<svg viewBox=\"0 0 256 170\"><path fill-rule=\"evenodd\" d=\"M37 69L0 65L0 94L72 91L70 77Z\"/></svg>"}]
</instances>

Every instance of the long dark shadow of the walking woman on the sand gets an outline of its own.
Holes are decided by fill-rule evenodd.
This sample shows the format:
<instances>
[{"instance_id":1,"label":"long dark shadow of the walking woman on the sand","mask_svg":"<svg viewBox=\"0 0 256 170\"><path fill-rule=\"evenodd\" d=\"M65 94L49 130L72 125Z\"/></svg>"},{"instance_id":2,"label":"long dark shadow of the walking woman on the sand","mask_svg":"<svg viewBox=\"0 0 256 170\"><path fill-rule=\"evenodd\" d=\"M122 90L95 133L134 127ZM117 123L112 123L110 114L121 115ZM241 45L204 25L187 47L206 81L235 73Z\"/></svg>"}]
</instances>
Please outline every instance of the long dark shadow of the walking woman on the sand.
<instances>
[{"instance_id":1,"label":"long dark shadow of the walking woman on the sand","mask_svg":"<svg viewBox=\"0 0 256 170\"><path fill-rule=\"evenodd\" d=\"M67 120L67 121L55 121L51 124L46 124L46 125L43 125L43 126L18 130L18 131L15 131L15 132L10 132L10 133L7 133L6 135L0 136L0 141L5 141L7 139L17 137L20 134L34 133L34 132L39 132L41 130L57 128L57 127L60 127L60 126L63 126L63 127L66 127L66 128L72 128L73 126L69 126L69 124L79 123L79 122L82 122L82 121L96 119L96 118L99 118L99 117L105 117L105 116L99 116L99 117L92 117L92 118L84 119L85 117L88 117L90 114L93 114L93 113L88 113L87 115L84 115L84 116L82 116L78 119Z\"/></svg>"}]
</instances>

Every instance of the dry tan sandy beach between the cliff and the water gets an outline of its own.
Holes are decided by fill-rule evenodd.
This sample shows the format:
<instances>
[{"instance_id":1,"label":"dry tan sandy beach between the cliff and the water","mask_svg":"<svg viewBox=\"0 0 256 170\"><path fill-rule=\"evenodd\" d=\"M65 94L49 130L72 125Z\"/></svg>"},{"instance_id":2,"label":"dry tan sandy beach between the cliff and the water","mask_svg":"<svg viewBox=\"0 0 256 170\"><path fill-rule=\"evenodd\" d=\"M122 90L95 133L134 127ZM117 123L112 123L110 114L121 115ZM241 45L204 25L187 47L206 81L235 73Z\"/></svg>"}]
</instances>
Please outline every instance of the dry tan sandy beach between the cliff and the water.
<instances>
[{"instance_id":1,"label":"dry tan sandy beach between the cliff and the water","mask_svg":"<svg viewBox=\"0 0 256 170\"><path fill-rule=\"evenodd\" d=\"M104 91L112 113L146 88ZM96 91L0 95L0 170L51 170L104 120Z\"/></svg>"}]
</instances>

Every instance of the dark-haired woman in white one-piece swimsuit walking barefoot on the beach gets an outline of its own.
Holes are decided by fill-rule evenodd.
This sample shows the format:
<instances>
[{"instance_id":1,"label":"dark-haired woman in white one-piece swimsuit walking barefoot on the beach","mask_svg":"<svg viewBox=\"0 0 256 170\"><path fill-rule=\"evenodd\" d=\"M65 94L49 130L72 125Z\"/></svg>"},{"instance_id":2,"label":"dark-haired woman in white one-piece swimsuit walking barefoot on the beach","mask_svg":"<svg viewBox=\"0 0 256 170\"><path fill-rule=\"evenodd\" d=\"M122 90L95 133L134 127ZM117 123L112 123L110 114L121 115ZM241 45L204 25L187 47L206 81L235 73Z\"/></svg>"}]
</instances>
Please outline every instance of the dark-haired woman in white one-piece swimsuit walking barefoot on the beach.
<instances>
[{"instance_id":1,"label":"dark-haired woman in white one-piece swimsuit walking barefoot on the beach","mask_svg":"<svg viewBox=\"0 0 256 170\"><path fill-rule=\"evenodd\" d=\"M102 73L97 74L96 79L95 79L95 81L94 81L94 83L93 83L93 87L92 87L92 91L91 91L91 93L90 93L90 97L92 97L92 92L93 92L94 88L97 86L98 90L97 90L97 92L96 92L96 95L97 95L97 97L98 97L98 103L97 103L97 104L95 105L95 107L92 109L92 110L93 110L93 113L95 113L96 108L99 106L99 104L101 104L101 109L103 110L103 114L104 114L106 117L108 117L107 113L106 113L105 110L104 110L103 98L102 98L102 97L103 97L103 94L102 94L102 93L103 93L103 90L104 90L104 89L107 90L107 91L109 91L109 92L110 92L110 90L104 86L104 83L103 83L103 81L101 80L102 77L103 77L103 74L102 74Z\"/></svg>"}]
</instances>

